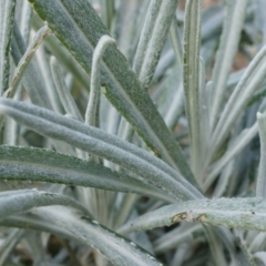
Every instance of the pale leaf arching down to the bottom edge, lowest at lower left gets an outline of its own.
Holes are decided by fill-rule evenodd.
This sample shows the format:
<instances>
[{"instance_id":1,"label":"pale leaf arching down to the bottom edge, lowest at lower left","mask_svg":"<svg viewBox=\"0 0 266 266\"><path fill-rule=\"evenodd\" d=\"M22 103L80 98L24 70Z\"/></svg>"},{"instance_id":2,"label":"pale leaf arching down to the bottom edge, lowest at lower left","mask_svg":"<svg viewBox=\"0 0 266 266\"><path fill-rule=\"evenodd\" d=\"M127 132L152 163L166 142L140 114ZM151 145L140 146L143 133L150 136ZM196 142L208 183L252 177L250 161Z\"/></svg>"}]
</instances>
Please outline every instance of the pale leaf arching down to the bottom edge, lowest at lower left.
<instances>
[{"instance_id":1,"label":"pale leaf arching down to the bottom edge, lowest at lower left","mask_svg":"<svg viewBox=\"0 0 266 266\"><path fill-rule=\"evenodd\" d=\"M63 238L93 246L114 265L163 266L133 242L109 231L85 216L76 215L64 207L38 208L24 216L0 221L1 225L50 232Z\"/></svg>"}]
</instances>

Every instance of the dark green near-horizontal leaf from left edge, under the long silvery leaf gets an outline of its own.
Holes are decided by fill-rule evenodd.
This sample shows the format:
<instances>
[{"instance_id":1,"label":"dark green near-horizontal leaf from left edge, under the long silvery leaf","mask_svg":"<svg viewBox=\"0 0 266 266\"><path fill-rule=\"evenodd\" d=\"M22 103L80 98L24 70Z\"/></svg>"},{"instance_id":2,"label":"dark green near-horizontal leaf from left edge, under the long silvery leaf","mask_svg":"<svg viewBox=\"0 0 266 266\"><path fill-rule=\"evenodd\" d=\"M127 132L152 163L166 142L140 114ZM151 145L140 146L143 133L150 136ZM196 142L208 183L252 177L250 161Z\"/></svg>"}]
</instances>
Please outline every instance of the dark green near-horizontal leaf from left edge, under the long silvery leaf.
<instances>
[{"instance_id":1,"label":"dark green near-horizontal leaf from left edge, under the long silvery leaf","mask_svg":"<svg viewBox=\"0 0 266 266\"><path fill-rule=\"evenodd\" d=\"M42 181L141 193L163 201L162 190L80 158L35 147L0 146L0 180Z\"/></svg>"}]
</instances>

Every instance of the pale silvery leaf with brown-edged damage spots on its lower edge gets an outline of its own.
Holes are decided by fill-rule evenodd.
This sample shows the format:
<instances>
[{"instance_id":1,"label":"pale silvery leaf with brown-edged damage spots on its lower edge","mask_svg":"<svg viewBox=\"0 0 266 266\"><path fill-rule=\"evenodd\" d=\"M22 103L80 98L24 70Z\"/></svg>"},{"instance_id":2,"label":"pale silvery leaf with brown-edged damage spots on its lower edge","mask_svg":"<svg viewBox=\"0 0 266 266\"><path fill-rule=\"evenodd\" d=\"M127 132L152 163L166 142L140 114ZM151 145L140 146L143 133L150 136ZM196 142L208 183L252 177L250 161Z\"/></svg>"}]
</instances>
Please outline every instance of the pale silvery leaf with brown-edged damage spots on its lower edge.
<instances>
[{"instance_id":1,"label":"pale silvery leaf with brown-edged damage spots on its lower edge","mask_svg":"<svg viewBox=\"0 0 266 266\"><path fill-rule=\"evenodd\" d=\"M187 201L144 214L119 229L120 234L170 226L177 222L266 231L266 200L260 197Z\"/></svg>"}]
</instances>

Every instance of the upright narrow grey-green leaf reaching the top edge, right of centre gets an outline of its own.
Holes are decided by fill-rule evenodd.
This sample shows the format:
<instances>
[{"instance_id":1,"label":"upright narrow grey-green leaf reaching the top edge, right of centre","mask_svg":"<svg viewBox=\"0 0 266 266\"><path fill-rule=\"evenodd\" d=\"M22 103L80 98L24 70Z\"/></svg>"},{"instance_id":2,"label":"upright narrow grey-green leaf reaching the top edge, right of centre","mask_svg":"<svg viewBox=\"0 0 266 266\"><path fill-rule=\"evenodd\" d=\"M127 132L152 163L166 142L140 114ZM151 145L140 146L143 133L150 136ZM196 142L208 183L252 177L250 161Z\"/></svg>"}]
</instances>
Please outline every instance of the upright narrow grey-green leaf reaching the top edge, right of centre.
<instances>
[{"instance_id":1,"label":"upright narrow grey-green leaf reaching the top edge, right of centre","mask_svg":"<svg viewBox=\"0 0 266 266\"><path fill-rule=\"evenodd\" d=\"M188 0L185 9L184 29L184 92L191 137L192 170L201 167L200 127L200 47L201 47L201 1Z\"/></svg>"}]
</instances>

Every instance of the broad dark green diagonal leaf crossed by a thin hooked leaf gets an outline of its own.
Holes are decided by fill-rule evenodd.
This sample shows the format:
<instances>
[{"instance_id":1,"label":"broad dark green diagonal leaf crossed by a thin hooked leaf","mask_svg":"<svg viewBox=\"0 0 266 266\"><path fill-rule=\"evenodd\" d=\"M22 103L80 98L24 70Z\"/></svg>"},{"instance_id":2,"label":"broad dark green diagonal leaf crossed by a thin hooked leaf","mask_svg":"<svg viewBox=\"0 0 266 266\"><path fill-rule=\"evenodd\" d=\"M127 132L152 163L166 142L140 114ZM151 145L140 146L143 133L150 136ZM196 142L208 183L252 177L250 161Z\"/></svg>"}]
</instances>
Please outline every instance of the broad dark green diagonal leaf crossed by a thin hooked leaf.
<instances>
[{"instance_id":1,"label":"broad dark green diagonal leaf crossed by a thin hooked leaf","mask_svg":"<svg viewBox=\"0 0 266 266\"><path fill-rule=\"evenodd\" d=\"M108 30L83 0L30 0L39 16L90 74L92 53ZM110 102L129 120L152 150L191 182L194 181L178 144L168 132L149 94L140 85L123 54L109 45L101 68L101 81ZM195 183L195 182L194 182Z\"/></svg>"}]
</instances>

